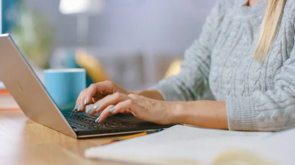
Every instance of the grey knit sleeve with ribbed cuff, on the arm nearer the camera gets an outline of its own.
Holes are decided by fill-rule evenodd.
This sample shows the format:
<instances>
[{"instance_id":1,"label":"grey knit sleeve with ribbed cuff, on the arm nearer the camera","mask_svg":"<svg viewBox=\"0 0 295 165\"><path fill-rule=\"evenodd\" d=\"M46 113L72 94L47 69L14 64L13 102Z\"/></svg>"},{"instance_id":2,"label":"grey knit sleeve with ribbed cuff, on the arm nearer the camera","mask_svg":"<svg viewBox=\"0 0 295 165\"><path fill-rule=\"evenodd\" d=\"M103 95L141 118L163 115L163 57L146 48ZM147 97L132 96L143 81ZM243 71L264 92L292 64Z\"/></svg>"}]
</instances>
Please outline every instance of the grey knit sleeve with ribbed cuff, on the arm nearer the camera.
<instances>
[{"instance_id":1,"label":"grey knit sleeve with ribbed cuff, on the arm nearer the camera","mask_svg":"<svg viewBox=\"0 0 295 165\"><path fill-rule=\"evenodd\" d=\"M295 127L295 47L274 81L273 90L226 100L230 130L279 131Z\"/></svg>"}]
</instances>

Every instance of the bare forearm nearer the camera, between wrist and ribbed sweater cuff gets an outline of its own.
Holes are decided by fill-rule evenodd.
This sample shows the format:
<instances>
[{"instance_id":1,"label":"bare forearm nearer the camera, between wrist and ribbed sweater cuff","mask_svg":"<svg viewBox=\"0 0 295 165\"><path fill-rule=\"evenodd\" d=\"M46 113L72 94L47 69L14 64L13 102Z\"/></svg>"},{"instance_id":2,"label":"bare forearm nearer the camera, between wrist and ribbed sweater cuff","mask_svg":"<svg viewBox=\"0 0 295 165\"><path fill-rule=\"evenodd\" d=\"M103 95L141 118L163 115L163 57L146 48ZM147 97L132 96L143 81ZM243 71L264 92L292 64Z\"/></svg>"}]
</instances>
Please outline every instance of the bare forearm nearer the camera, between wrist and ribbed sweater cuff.
<instances>
[{"instance_id":1,"label":"bare forearm nearer the camera, between wrist and ribbed sweater cuff","mask_svg":"<svg viewBox=\"0 0 295 165\"><path fill-rule=\"evenodd\" d=\"M205 128L228 129L225 101L175 102L175 123Z\"/></svg>"}]
</instances>

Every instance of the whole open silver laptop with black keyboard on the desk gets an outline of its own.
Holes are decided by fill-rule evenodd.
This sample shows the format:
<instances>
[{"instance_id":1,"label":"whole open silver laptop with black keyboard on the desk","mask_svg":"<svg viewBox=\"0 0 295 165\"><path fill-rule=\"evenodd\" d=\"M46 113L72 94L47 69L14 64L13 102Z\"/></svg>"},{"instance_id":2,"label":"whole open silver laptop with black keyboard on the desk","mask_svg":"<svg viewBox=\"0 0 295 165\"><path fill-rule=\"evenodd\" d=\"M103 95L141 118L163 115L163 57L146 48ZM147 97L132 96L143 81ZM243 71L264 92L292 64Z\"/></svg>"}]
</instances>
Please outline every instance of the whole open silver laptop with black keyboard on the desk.
<instances>
[{"instance_id":1,"label":"whole open silver laptop with black keyboard on the desk","mask_svg":"<svg viewBox=\"0 0 295 165\"><path fill-rule=\"evenodd\" d=\"M153 131L172 126L123 114L96 123L98 115L60 110L9 34L0 35L0 80L28 118L73 138Z\"/></svg>"}]
</instances>

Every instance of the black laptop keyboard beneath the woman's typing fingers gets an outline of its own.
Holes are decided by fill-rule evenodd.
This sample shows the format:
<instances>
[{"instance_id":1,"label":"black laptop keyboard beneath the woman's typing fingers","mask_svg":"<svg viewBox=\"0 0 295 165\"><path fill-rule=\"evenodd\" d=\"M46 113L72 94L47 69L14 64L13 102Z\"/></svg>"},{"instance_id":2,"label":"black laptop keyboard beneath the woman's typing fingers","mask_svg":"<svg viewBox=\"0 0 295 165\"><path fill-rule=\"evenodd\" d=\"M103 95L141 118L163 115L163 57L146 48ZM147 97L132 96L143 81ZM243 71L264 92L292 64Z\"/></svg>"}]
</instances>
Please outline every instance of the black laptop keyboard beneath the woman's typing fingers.
<instances>
[{"instance_id":1,"label":"black laptop keyboard beneath the woman's typing fingers","mask_svg":"<svg viewBox=\"0 0 295 165\"><path fill-rule=\"evenodd\" d=\"M64 118L74 128L82 129L111 129L111 128L130 128L136 125L122 120L105 120L102 123L96 123L97 116L89 116L85 113L75 114L73 112L62 113Z\"/></svg>"}]
</instances>

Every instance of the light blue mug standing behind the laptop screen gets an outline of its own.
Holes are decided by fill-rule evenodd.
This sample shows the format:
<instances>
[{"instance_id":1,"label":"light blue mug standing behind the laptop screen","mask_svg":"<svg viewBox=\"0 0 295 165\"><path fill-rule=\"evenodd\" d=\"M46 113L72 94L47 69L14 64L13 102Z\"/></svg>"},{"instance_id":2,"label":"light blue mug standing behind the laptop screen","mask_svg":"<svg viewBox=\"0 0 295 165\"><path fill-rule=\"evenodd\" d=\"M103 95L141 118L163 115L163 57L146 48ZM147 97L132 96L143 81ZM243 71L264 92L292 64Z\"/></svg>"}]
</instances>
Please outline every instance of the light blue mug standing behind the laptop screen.
<instances>
[{"instance_id":1,"label":"light blue mug standing behind the laptop screen","mask_svg":"<svg viewBox=\"0 0 295 165\"><path fill-rule=\"evenodd\" d=\"M44 85L61 111L72 110L81 91L86 88L85 69L44 71Z\"/></svg>"}]
</instances>

